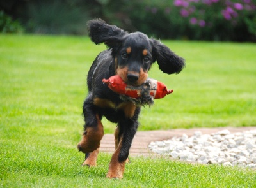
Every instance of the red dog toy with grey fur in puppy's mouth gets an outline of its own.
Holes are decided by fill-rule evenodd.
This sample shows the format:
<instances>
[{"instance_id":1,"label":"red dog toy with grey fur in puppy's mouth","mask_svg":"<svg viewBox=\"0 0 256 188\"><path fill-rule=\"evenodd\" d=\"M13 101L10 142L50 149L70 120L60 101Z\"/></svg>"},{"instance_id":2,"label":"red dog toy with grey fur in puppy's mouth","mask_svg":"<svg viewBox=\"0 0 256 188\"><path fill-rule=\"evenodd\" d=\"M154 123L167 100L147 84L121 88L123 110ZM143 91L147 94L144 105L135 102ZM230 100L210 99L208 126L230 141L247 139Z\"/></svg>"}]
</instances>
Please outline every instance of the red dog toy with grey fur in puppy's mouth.
<instances>
[{"instance_id":1,"label":"red dog toy with grey fur in puppy's mouth","mask_svg":"<svg viewBox=\"0 0 256 188\"><path fill-rule=\"evenodd\" d=\"M148 78L139 86L127 85L118 75L103 79L102 82L107 83L109 89L114 92L140 101L140 105L152 105L153 99L164 98L173 92L168 90L166 85L152 78Z\"/></svg>"}]
</instances>

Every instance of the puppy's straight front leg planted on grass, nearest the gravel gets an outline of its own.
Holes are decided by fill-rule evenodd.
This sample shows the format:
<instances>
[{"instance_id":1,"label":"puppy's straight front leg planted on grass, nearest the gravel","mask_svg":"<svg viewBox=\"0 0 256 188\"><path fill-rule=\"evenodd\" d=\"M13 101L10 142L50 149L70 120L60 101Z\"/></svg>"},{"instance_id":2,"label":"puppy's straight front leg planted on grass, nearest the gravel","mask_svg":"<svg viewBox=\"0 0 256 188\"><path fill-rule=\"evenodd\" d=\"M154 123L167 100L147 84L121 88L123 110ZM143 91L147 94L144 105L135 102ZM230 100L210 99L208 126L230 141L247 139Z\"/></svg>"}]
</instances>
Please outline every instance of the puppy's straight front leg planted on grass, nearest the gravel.
<instances>
[{"instance_id":1,"label":"puppy's straight front leg planted on grass, nearest the gravel","mask_svg":"<svg viewBox=\"0 0 256 188\"><path fill-rule=\"evenodd\" d=\"M126 122L118 124L118 126L120 126L118 136L119 143L109 163L107 178L123 178L125 162L138 128L138 122L137 120L132 122L132 120L129 119Z\"/></svg>"}]
</instances>

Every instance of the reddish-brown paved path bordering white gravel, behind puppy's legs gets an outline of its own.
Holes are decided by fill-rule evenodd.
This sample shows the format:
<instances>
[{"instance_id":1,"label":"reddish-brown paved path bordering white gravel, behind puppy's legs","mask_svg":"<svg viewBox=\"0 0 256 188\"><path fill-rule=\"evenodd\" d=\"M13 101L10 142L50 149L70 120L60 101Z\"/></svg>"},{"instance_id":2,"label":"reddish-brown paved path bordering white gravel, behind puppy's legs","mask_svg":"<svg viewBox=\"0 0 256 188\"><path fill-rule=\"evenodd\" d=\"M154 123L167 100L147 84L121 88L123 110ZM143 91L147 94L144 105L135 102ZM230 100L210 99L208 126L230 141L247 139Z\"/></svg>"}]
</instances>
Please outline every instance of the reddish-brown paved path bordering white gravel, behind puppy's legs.
<instances>
[{"instance_id":1,"label":"reddish-brown paved path bordering white gravel, behind puppy's legs","mask_svg":"<svg viewBox=\"0 0 256 188\"><path fill-rule=\"evenodd\" d=\"M187 134L192 136L195 131L201 131L202 134L211 134L218 131L228 129L231 133L248 131L256 129L256 127L218 127L218 128L195 128L195 129L172 129L168 131L138 131L134 136L132 142L132 147L129 155L133 157L153 157L154 154L148 149L148 144L150 141L162 141L168 140L173 136L182 136L182 134ZM100 152L113 153L115 152L115 141L114 134L104 134L101 144Z\"/></svg>"}]
</instances>

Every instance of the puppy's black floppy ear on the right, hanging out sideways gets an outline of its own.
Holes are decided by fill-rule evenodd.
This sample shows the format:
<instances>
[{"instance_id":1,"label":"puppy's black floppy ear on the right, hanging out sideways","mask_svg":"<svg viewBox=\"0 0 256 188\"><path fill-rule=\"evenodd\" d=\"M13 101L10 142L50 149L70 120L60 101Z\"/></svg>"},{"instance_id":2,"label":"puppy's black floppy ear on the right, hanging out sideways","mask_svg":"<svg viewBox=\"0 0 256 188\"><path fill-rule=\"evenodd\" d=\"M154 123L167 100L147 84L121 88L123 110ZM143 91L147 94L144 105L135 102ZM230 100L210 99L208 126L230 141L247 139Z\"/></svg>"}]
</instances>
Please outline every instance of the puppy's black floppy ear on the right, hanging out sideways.
<instances>
[{"instance_id":1,"label":"puppy's black floppy ear on the right, hanging out sideways","mask_svg":"<svg viewBox=\"0 0 256 188\"><path fill-rule=\"evenodd\" d=\"M180 73L185 66L185 59L176 55L166 45L158 40L151 40L153 60L157 61L159 69L167 74Z\"/></svg>"}]
</instances>

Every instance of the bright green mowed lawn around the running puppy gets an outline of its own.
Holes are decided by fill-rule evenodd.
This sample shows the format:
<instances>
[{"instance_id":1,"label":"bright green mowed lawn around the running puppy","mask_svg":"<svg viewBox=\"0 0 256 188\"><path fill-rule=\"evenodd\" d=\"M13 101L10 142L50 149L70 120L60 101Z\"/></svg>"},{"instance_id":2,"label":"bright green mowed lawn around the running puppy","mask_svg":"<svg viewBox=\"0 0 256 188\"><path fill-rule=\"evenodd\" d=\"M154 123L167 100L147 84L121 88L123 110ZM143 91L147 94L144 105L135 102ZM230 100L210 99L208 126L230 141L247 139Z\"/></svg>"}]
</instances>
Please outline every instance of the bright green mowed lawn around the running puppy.
<instances>
[{"instance_id":1,"label":"bright green mowed lawn around the running puppy","mask_svg":"<svg viewBox=\"0 0 256 188\"><path fill-rule=\"evenodd\" d=\"M162 41L186 59L173 89L142 108L139 130L256 126L256 45ZM111 155L81 167L86 75L104 45L87 37L0 35L0 187L256 187L244 168L132 158L123 180L104 178ZM115 125L103 120L105 133Z\"/></svg>"}]
</instances>

